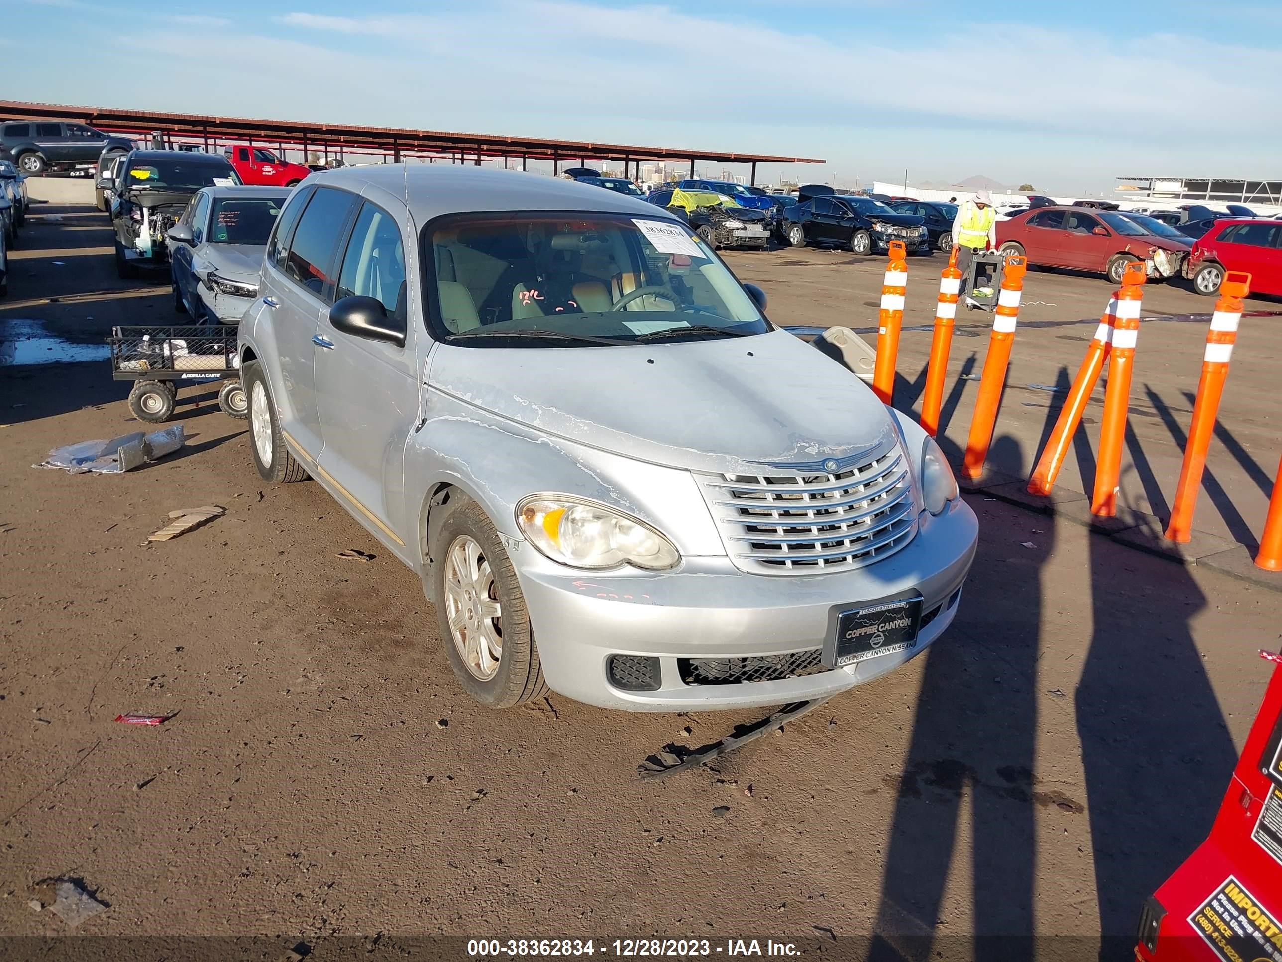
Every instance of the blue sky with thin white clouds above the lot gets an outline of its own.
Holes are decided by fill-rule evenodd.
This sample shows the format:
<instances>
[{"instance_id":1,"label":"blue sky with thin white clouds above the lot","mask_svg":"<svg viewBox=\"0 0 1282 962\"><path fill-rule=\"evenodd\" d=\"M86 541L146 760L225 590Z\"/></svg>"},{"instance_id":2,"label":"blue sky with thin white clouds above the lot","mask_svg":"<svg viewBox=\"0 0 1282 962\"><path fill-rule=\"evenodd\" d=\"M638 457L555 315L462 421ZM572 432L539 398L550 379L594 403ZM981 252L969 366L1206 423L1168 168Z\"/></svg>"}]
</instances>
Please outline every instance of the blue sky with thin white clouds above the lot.
<instances>
[{"instance_id":1,"label":"blue sky with thin white clouds above the lot","mask_svg":"<svg viewBox=\"0 0 1282 962\"><path fill-rule=\"evenodd\" d=\"M851 185L1282 177L1282 6L1209 10L27 0L0 62L22 100L817 156L786 172Z\"/></svg>"}]
</instances>

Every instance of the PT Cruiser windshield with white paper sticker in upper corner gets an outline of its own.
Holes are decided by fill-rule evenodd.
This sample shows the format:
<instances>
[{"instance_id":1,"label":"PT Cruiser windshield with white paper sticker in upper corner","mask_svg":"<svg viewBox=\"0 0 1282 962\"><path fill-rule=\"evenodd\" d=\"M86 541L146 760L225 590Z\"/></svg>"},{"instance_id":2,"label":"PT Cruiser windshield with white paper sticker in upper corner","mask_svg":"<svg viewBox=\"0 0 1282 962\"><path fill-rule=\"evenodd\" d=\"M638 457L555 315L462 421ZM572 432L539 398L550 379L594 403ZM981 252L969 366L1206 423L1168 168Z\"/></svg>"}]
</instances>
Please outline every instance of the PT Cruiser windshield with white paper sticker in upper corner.
<instances>
[{"instance_id":1,"label":"PT Cruiser windshield with white paper sticker in upper corner","mask_svg":"<svg viewBox=\"0 0 1282 962\"><path fill-rule=\"evenodd\" d=\"M712 249L668 218L460 214L428 224L424 236L435 260L435 332L462 346L574 348L591 339L772 330Z\"/></svg>"}]
</instances>

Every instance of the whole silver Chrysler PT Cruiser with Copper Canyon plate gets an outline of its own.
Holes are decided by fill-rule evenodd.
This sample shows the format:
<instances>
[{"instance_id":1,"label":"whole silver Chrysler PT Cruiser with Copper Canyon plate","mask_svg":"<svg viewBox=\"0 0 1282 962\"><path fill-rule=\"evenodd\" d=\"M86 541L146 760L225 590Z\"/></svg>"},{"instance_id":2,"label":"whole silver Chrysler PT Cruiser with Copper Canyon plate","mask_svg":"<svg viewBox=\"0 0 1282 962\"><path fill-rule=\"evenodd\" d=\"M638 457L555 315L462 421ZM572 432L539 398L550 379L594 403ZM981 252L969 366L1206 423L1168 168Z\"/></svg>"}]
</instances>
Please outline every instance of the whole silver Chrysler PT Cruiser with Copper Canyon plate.
<instances>
[{"instance_id":1,"label":"whole silver Chrysler PT Cruiser with Copper Canyon plate","mask_svg":"<svg viewBox=\"0 0 1282 962\"><path fill-rule=\"evenodd\" d=\"M323 172L240 325L249 448L420 575L485 704L832 695L949 626L978 527L935 441L764 305L622 194Z\"/></svg>"}]
</instances>

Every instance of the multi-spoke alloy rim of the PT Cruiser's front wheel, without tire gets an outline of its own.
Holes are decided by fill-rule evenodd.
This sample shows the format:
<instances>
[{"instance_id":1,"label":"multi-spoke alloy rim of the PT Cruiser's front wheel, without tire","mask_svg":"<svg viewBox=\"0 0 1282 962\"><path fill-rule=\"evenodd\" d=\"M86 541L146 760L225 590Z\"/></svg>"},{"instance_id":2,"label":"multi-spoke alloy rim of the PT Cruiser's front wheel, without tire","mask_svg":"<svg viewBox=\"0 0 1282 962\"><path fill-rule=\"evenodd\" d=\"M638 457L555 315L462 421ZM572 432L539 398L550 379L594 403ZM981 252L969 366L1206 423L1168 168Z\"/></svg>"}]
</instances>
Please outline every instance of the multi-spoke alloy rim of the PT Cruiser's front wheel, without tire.
<instances>
[{"instance_id":1,"label":"multi-spoke alloy rim of the PT Cruiser's front wheel, without tire","mask_svg":"<svg viewBox=\"0 0 1282 962\"><path fill-rule=\"evenodd\" d=\"M445 559L445 613L459 657L478 681L490 681L503 661L499 585L476 539L459 535Z\"/></svg>"}]
</instances>

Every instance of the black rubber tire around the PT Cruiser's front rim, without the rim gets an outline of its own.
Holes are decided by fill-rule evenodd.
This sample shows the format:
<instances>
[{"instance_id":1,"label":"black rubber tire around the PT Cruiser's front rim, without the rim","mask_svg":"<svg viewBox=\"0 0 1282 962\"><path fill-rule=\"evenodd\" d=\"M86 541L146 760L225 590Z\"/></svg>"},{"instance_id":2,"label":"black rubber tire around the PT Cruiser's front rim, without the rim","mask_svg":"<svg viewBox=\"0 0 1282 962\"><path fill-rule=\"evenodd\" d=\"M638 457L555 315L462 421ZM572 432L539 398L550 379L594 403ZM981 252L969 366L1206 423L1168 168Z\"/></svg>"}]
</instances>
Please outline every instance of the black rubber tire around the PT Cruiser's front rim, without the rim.
<instances>
[{"instance_id":1,"label":"black rubber tire around the PT Cruiser's front rim, without the rim","mask_svg":"<svg viewBox=\"0 0 1282 962\"><path fill-rule=\"evenodd\" d=\"M517 584L517 572L499 540L497 528L479 504L460 493L455 493L449 503L437 511L447 513L440 525L433 522L435 536L428 550L432 558L432 577L436 580L433 585L437 599L436 622L450 667L464 690L487 708L512 708L542 698L549 689L538 659L538 645L529 625L524 595ZM478 677L468 667L450 627L451 602L446 586L450 550L464 537L479 545L481 559L488 563L492 575L488 599L497 602L501 612L497 634L501 637L503 650L499 654L497 668L490 679Z\"/></svg>"}]
</instances>

